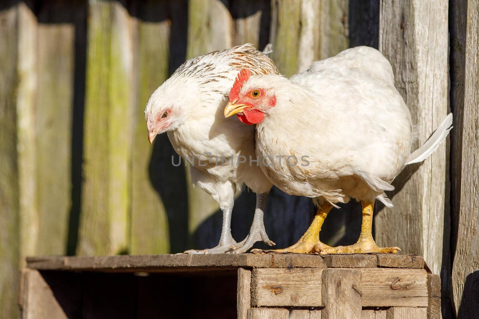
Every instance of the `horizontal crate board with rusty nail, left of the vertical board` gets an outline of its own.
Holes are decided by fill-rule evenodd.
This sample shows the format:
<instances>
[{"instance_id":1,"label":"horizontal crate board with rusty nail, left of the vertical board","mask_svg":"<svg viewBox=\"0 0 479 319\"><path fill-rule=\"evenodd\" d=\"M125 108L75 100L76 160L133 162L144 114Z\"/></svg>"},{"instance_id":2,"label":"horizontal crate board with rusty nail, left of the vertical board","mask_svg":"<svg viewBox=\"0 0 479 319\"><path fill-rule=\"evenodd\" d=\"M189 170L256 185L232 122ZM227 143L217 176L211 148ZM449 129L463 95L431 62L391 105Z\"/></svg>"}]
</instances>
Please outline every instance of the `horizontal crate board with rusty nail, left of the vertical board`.
<instances>
[{"instance_id":1,"label":"horizontal crate board with rusty nail, left of the vertical board","mask_svg":"<svg viewBox=\"0 0 479 319\"><path fill-rule=\"evenodd\" d=\"M260 306L322 306L322 269L253 269L251 305Z\"/></svg>"}]
</instances>

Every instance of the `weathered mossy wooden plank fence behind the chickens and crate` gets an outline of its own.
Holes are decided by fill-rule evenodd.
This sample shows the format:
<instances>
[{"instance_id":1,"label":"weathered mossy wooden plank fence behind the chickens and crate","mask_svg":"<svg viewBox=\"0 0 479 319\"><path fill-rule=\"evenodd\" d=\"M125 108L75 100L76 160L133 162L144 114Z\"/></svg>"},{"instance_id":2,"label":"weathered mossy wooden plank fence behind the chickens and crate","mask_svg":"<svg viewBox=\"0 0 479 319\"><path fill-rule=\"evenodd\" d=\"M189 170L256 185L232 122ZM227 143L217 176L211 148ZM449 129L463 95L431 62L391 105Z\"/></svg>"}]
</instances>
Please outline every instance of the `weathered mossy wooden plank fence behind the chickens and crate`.
<instances>
[{"instance_id":1,"label":"weathered mossy wooden plank fence behind the chickens and crate","mask_svg":"<svg viewBox=\"0 0 479 319\"><path fill-rule=\"evenodd\" d=\"M217 204L191 187L184 166L171 165L165 134L148 144L143 109L185 59L246 42L273 43L285 76L347 47L378 48L419 124L415 146L453 111L450 143L398 176L395 207L376 209L375 237L423 255L441 274L445 318L477 311L478 2L2 1L0 318L18 316L14 290L27 255L177 253L217 243ZM235 202L237 240L253 207L251 192ZM353 243L359 211L349 203L330 214L323 241ZM278 247L289 245L312 214L308 198L273 189L266 231Z\"/></svg>"}]
</instances>

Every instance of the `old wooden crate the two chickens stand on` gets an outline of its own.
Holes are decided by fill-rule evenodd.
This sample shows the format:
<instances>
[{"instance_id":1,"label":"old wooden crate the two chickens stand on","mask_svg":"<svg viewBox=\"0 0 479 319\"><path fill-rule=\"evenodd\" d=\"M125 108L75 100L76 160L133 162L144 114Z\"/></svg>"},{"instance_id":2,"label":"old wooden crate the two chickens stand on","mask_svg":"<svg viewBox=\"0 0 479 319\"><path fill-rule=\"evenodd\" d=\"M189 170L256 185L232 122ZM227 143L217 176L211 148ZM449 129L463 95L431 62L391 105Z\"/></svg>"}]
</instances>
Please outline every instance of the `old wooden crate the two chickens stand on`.
<instances>
[{"instance_id":1,"label":"old wooden crate the two chickens stand on","mask_svg":"<svg viewBox=\"0 0 479 319\"><path fill-rule=\"evenodd\" d=\"M417 255L27 258L22 318L441 318Z\"/></svg>"}]
</instances>

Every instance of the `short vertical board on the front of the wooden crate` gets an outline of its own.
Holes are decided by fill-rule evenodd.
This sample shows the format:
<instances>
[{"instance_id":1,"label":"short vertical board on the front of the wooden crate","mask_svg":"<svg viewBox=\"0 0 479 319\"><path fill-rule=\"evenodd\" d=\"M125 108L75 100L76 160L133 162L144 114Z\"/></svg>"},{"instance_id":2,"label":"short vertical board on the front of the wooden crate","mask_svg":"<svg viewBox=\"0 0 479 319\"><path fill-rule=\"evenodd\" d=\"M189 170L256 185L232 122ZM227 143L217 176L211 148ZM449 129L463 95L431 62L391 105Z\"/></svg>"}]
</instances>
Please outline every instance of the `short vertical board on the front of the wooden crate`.
<instances>
[{"instance_id":1,"label":"short vertical board on the front of the wooden crate","mask_svg":"<svg viewBox=\"0 0 479 319\"><path fill-rule=\"evenodd\" d=\"M360 270L324 269L322 288L322 318L361 318Z\"/></svg>"}]
</instances>

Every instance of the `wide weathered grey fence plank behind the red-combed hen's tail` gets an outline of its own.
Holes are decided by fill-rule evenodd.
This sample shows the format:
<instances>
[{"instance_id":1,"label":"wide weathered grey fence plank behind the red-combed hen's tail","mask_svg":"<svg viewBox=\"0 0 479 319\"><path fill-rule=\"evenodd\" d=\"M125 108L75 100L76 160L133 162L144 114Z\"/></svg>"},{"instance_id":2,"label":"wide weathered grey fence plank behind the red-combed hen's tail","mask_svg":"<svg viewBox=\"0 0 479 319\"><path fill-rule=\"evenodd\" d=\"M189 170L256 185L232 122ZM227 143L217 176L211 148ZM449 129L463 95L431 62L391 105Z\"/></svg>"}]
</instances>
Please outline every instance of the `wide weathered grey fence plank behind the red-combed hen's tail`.
<instances>
[{"instance_id":1,"label":"wide weathered grey fence plank behind the red-combed hen's tail","mask_svg":"<svg viewBox=\"0 0 479 319\"><path fill-rule=\"evenodd\" d=\"M379 51L395 74L395 86L419 124L416 149L445 118L448 106L448 1L381 1ZM394 208L376 214L376 242L424 256L433 273L443 253L445 143L423 164L406 167L388 193ZM433 200L432 200L433 198Z\"/></svg>"}]
</instances>

